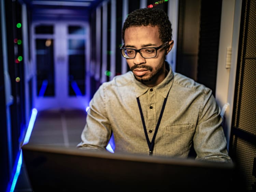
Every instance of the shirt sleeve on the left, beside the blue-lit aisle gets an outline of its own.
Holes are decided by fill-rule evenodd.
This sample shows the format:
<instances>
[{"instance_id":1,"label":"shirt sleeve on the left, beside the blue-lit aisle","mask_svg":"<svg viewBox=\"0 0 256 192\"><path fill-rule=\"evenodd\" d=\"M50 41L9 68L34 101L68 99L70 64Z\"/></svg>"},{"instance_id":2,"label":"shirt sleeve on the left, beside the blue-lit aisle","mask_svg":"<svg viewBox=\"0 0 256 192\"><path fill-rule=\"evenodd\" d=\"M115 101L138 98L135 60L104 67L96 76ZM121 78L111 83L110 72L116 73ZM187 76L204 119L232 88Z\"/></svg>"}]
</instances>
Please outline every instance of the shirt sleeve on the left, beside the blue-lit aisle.
<instances>
[{"instance_id":1,"label":"shirt sleeve on the left, beside the blue-lit aisle","mask_svg":"<svg viewBox=\"0 0 256 192\"><path fill-rule=\"evenodd\" d=\"M82 141L77 147L104 150L107 146L111 137L111 126L106 115L104 98L102 84L90 101L86 124L81 134Z\"/></svg>"}]
</instances>

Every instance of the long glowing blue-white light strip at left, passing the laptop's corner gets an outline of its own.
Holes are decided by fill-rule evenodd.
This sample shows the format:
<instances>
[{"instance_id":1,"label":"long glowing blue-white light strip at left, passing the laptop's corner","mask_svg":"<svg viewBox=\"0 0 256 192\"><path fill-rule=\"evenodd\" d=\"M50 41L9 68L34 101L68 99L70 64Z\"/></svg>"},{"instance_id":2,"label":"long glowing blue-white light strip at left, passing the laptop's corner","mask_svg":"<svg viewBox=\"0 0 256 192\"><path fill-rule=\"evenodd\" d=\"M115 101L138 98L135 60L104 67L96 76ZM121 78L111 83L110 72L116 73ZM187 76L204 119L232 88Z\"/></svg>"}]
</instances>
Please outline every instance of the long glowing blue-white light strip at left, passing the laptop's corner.
<instances>
[{"instance_id":1,"label":"long glowing blue-white light strip at left, passing the laptop's corner","mask_svg":"<svg viewBox=\"0 0 256 192\"><path fill-rule=\"evenodd\" d=\"M25 135L23 145L25 145L29 142L30 135L31 135L32 130L34 128L34 123L35 123L35 118L37 117L37 113L38 113L37 109L35 109L35 108L32 109L31 117L30 117L29 124L28 124L28 129L26 131L26 135ZM17 165L15 164L16 165L16 170L15 170L14 177L12 179L12 185L11 185L11 187L10 187L10 184L8 185L6 192L13 192L14 189L15 189L15 186L16 186L16 183L17 183L17 180L18 180L18 177L19 177L20 169L21 169L21 166L22 166L22 150L20 150L20 153L18 153L17 157L19 157L19 158L18 158Z\"/></svg>"}]
</instances>

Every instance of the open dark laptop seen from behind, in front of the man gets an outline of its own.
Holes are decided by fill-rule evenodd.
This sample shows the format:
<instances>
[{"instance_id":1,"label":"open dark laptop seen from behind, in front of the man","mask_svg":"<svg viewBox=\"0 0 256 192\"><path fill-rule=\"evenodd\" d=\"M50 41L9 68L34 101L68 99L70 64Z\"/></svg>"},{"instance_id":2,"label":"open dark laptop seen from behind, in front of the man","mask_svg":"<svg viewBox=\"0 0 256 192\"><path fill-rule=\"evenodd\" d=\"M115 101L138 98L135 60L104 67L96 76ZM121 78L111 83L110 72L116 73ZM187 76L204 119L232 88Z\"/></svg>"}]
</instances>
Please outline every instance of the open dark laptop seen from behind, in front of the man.
<instances>
[{"instance_id":1,"label":"open dark laptop seen from behind, in front of the man","mask_svg":"<svg viewBox=\"0 0 256 192\"><path fill-rule=\"evenodd\" d=\"M232 163L58 146L24 145L31 187L39 191L227 191Z\"/></svg>"}]
</instances>

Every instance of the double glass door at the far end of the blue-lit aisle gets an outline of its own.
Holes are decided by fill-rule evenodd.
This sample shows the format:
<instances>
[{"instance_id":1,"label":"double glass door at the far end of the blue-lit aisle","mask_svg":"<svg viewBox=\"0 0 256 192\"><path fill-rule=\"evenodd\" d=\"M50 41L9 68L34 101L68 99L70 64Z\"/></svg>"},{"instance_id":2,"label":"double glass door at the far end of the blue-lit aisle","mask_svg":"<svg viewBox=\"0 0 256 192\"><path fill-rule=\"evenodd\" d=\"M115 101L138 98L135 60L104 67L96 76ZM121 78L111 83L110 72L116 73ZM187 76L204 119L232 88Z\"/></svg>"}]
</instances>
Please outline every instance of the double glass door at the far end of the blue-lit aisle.
<instances>
[{"instance_id":1,"label":"double glass door at the far end of the blue-lit aisle","mask_svg":"<svg viewBox=\"0 0 256 192\"><path fill-rule=\"evenodd\" d=\"M88 105L88 34L84 23L33 23L34 101L38 110Z\"/></svg>"}]
</instances>

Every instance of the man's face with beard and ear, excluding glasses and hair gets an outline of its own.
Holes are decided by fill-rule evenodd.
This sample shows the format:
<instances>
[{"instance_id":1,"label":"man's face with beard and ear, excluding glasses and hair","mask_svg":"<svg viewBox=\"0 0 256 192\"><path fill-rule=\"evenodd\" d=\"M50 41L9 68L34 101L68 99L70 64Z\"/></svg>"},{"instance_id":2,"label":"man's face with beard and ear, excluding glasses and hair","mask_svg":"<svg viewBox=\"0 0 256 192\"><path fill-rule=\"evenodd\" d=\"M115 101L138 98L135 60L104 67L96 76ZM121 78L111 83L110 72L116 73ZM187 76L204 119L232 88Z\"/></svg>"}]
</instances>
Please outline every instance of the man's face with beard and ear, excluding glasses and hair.
<instances>
[{"instance_id":1,"label":"man's face with beard and ear, excluding glasses and hair","mask_svg":"<svg viewBox=\"0 0 256 192\"><path fill-rule=\"evenodd\" d=\"M125 30L124 35L125 48L141 49L145 47L159 47L163 43L159 38L158 27L140 26L129 27ZM157 50L157 55L154 58L145 59L140 53L136 54L133 59L126 59L134 77L147 86L153 87L165 78L165 55L172 48L170 46Z\"/></svg>"}]
</instances>

